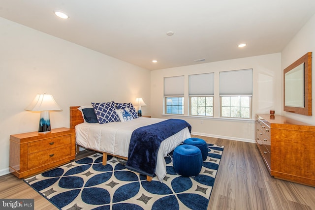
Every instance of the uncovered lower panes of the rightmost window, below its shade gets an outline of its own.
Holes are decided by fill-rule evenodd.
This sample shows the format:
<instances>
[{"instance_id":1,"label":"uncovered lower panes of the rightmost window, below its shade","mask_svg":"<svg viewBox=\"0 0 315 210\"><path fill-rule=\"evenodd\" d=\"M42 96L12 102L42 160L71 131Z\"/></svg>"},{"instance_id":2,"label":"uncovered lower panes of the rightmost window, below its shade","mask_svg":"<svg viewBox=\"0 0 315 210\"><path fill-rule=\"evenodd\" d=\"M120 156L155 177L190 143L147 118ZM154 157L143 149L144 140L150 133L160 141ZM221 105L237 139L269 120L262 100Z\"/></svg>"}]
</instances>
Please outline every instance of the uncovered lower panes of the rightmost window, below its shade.
<instances>
[{"instance_id":1,"label":"uncovered lower panes of the rightmost window, below its shade","mask_svg":"<svg viewBox=\"0 0 315 210\"><path fill-rule=\"evenodd\" d=\"M251 96L221 96L221 117L251 118Z\"/></svg>"}]
</instances>

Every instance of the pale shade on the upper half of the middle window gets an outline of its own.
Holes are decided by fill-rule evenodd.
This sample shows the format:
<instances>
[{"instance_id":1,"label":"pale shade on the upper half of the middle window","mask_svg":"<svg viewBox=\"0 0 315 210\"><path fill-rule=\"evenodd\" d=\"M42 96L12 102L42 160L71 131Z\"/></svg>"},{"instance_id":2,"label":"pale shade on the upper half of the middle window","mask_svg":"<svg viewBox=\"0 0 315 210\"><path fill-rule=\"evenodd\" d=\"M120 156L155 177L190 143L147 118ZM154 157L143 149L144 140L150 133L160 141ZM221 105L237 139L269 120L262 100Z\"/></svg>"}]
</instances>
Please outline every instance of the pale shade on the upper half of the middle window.
<instances>
[{"instance_id":1,"label":"pale shade on the upper half of the middle window","mask_svg":"<svg viewBox=\"0 0 315 210\"><path fill-rule=\"evenodd\" d=\"M189 95L214 95L214 73L189 75Z\"/></svg>"}]
</instances>

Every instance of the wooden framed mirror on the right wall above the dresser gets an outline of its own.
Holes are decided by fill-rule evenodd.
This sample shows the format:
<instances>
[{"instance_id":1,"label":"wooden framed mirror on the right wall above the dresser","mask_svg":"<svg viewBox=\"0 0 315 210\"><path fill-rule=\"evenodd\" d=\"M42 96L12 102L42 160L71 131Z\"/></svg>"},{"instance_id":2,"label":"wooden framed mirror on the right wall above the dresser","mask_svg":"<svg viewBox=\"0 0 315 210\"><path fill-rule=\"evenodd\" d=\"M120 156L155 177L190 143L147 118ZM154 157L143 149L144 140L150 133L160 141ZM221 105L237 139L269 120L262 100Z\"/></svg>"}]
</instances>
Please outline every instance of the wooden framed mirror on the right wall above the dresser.
<instances>
[{"instance_id":1,"label":"wooden framed mirror on the right wall above the dresser","mask_svg":"<svg viewBox=\"0 0 315 210\"><path fill-rule=\"evenodd\" d=\"M312 116L312 52L284 69L284 111Z\"/></svg>"}]
</instances>

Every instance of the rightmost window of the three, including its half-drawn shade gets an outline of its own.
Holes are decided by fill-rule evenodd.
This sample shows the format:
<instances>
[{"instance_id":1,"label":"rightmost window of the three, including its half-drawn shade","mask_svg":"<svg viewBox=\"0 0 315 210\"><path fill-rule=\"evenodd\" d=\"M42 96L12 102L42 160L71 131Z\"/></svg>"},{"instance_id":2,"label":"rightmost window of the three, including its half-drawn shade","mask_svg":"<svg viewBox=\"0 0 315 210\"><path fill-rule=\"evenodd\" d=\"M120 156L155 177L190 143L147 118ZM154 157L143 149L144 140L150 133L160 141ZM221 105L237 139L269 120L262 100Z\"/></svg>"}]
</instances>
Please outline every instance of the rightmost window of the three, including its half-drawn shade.
<instances>
[{"instance_id":1,"label":"rightmost window of the three, including its half-drawn shade","mask_svg":"<svg viewBox=\"0 0 315 210\"><path fill-rule=\"evenodd\" d=\"M220 115L252 118L252 69L220 72Z\"/></svg>"}]
</instances>

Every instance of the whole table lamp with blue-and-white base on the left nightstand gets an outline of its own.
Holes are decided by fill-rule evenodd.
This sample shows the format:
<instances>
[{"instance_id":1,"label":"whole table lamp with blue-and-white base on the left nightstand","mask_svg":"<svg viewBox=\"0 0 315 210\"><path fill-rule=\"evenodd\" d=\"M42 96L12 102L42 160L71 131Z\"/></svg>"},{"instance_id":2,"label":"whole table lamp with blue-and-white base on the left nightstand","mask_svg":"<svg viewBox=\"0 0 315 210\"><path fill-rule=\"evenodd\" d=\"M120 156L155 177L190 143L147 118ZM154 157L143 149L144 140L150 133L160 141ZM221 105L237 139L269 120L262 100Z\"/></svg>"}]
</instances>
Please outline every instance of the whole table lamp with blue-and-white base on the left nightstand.
<instances>
[{"instance_id":1,"label":"whole table lamp with blue-and-white base on the left nightstand","mask_svg":"<svg viewBox=\"0 0 315 210\"><path fill-rule=\"evenodd\" d=\"M25 110L40 111L38 133L45 134L51 132L49 111L62 110L62 108L56 103L52 95L44 93L37 94Z\"/></svg>"}]
</instances>

